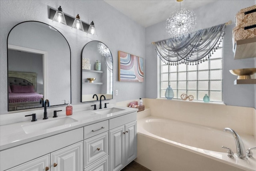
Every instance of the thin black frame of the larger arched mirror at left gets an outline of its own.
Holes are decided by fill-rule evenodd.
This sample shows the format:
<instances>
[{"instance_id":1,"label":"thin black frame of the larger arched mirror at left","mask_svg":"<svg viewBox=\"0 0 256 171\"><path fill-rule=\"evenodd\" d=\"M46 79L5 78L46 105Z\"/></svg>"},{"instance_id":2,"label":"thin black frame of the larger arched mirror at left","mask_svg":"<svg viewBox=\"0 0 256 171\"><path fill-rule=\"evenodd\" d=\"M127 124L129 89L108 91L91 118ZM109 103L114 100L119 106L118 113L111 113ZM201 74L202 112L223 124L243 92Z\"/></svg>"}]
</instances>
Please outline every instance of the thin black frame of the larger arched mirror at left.
<instances>
[{"instance_id":1,"label":"thin black frame of the larger arched mirror at left","mask_svg":"<svg viewBox=\"0 0 256 171\"><path fill-rule=\"evenodd\" d=\"M7 36L7 88L6 88L6 92L8 92L8 84L9 84L9 77L8 77L8 71L9 71L9 68L8 68L8 38L9 38L9 35L10 35L10 33L12 32L12 30L16 27L16 26L18 26L19 24L22 24L22 23L25 23L25 22L38 22L38 23L42 23L42 24L46 24L46 23L44 23L44 22L40 22L40 21L34 21L34 20L29 20L29 21L24 21L24 22L20 22L20 23L18 23L18 24L16 24L15 26L13 26L12 27L12 29L9 31L9 33L8 33L8 36ZM48 25L48 26L50 26L50 27L52 27L52 28L54 28L53 26L51 26L51 25L49 25L49 24L46 24L46 25ZM72 102L72 82L71 82L71 49L70 49L70 45L69 45L69 43L68 43L68 40L65 38L65 36L59 31L59 30L57 30L56 28L54 28L57 32L59 32L62 36L63 36L63 38L66 40L66 42L67 42L67 44L68 44L68 47L69 47L69 51L70 51L70 103ZM47 90L46 90L47 91ZM7 103L8 103L8 108L7 108L7 111L9 111L9 93L7 93ZM68 103L66 103L66 104L68 104ZM59 105L66 105L66 104L59 104ZM52 106L59 106L59 105L52 105ZM28 109L38 109L38 108L42 108L42 107L32 107L32 108L28 108ZM17 110L12 110L12 112L13 111L21 111L21 110L28 110L28 109L17 109Z\"/></svg>"}]
</instances>

